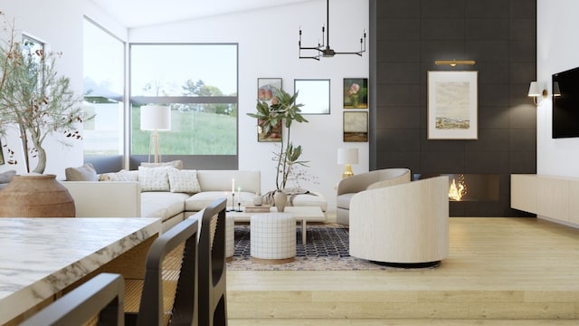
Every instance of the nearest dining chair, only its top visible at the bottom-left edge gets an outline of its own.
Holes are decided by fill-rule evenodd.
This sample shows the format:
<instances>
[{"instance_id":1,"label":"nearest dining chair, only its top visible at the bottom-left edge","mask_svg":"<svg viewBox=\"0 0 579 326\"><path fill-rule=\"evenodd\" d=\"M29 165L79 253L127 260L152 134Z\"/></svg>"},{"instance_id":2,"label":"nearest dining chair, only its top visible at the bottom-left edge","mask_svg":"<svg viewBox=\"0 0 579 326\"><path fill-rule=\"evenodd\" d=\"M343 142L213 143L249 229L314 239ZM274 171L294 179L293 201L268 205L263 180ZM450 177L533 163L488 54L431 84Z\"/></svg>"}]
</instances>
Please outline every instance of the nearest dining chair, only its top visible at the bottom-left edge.
<instances>
[{"instance_id":1,"label":"nearest dining chair, only its top visible at the bottom-left edge","mask_svg":"<svg viewBox=\"0 0 579 326\"><path fill-rule=\"evenodd\" d=\"M122 275L100 273L21 325L124 325L124 286Z\"/></svg>"}]
</instances>

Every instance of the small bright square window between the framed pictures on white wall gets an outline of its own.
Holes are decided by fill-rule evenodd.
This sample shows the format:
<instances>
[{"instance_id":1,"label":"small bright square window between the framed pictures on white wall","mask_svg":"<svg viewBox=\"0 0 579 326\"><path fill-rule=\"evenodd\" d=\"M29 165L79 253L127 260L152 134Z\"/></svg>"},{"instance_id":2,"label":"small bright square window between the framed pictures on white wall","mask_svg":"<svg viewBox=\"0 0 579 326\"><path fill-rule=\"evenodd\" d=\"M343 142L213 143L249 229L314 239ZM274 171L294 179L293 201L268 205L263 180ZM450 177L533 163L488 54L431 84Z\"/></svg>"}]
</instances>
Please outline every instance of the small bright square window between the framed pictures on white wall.
<instances>
[{"instance_id":1,"label":"small bright square window between the framed pictures on white wall","mask_svg":"<svg viewBox=\"0 0 579 326\"><path fill-rule=\"evenodd\" d=\"M329 80L297 79L293 89L298 92L297 103L301 103L301 114L329 114Z\"/></svg>"}]
</instances>

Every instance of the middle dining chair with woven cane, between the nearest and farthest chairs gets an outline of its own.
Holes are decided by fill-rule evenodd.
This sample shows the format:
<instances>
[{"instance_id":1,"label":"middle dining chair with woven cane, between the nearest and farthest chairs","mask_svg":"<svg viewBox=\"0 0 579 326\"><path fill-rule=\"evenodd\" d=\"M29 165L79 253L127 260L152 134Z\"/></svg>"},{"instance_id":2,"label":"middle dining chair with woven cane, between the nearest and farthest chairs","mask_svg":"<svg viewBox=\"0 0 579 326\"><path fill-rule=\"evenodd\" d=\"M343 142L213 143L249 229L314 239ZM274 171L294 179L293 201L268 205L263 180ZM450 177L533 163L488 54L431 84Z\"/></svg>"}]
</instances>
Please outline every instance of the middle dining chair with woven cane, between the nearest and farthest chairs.
<instances>
[{"instance_id":1,"label":"middle dining chair with woven cane, between the nearest and farthest chairs","mask_svg":"<svg viewBox=\"0 0 579 326\"><path fill-rule=\"evenodd\" d=\"M125 282L127 325L197 325L195 218L160 235L147 254L144 280Z\"/></svg>"}]
</instances>

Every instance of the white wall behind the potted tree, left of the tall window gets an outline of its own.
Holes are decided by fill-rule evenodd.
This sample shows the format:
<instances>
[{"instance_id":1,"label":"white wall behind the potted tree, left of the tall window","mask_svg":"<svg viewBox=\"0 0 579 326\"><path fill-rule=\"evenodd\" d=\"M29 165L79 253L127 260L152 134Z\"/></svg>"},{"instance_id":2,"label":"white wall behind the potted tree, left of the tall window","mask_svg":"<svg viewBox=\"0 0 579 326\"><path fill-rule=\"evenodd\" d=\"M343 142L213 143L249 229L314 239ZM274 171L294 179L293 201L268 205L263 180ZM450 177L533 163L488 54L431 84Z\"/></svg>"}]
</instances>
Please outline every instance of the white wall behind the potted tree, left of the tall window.
<instances>
[{"instance_id":1,"label":"white wall behind the potted tree, left of the tall window","mask_svg":"<svg viewBox=\"0 0 579 326\"><path fill-rule=\"evenodd\" d=\"M32 35L48 43L50 49L62 52L62 58L57 60L57 71L71 78L71 87L78 94L82 92L82 3L76 0L25 0L4 1L0 11L19 32ZM18 149L19 139L15 135L3 139L13 149ZM81 141L72 142L67 148L55 139L46 139L47 166L44 173L64 177L64 168L82 164ZM8 159L3 148L5 160ZM22 151L14 157L17 165L2 165L0 172L15 169L24 173L24 158ZM35 167L35 162L31 168Z\"/></svg>"}]
</instances>

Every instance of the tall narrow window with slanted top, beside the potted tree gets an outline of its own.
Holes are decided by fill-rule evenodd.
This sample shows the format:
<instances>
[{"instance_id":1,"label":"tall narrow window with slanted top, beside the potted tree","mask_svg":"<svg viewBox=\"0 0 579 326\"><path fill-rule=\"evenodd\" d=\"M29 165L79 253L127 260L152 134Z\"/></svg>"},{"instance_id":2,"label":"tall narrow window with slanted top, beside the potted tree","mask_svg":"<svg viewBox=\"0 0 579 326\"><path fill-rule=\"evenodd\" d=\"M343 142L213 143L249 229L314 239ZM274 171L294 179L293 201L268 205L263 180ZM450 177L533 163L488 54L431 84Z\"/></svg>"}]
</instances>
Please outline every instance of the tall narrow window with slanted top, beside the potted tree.
<instances>
[{"instance_id":1,"label":"tall narrow window with slanted top, beside the potted tree","mask_svg":"<svg viewBox=\"0 0 579 326\"><path fill-rule=\"evenodd\" d=\"M123 150L125 44L84 20L84 108L94 119L84 123L85 156L119 156Z\"/></svg>"}]
</instances>

